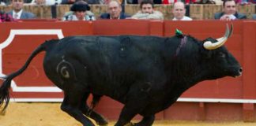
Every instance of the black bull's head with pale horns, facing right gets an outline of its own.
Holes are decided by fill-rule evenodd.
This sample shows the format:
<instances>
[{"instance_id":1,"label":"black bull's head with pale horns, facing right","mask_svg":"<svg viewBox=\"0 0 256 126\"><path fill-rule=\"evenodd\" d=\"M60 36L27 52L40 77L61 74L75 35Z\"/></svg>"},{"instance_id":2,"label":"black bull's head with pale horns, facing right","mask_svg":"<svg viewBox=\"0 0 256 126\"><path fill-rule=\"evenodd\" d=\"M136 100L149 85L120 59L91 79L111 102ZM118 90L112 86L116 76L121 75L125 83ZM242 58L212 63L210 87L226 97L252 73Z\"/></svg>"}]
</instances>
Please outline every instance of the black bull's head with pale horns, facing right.
<instances>
[{"instance_id":1,"label":"black bull's head with pale horns, facing right","mask_svg":"<svg viewBox=\"0 0 256 126\"><path fill-rule=\"evenodd\" d=\"M203 64L207 64L205 69L210 69L209 79L216 79L224 76L240 76L242 68L235 57L228 52L224 43L232 35L233 26L229 29L228 24L225 35L219 39L206 39L203 47L206 49L204 52L205 60Z\"/></svg>"}]
</instances>

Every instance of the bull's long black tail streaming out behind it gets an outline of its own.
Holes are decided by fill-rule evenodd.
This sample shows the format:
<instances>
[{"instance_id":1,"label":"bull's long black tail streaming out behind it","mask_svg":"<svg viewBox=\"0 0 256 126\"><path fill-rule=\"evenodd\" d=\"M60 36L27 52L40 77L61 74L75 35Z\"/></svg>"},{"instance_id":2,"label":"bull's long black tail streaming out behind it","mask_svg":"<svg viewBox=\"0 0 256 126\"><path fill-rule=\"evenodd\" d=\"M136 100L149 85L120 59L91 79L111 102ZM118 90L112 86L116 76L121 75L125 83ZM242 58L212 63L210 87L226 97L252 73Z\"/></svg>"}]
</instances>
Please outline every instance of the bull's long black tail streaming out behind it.
<instances>
[{"instance_id":1,"label":"bull's long black tail streaming out behind it","mask_svg":"<svg viewBox=\"0 0 256 126\"><path fill-rule=\"evenodd\" d=\"M9 88L11 86L13 78L19 76L22 72L24 72L24 70L28 68L29 63L34 57L36 57L37 54L39 54L43 50L47 50L47 48L53 45L55 42L55 40L50 40L41 44L36 48L36 50L32 52L32 54L30 55L30 57L28 57L28 60L25 62L21 69L17 70L17 72L9 74L9 76L2 77L4 81L2 83L2 86L0 87L0 107L4 104L4 102L6 102L4 108L2 109L2 113L5 113L5 110L9 104Z\"/></svg>"}]
</instances>

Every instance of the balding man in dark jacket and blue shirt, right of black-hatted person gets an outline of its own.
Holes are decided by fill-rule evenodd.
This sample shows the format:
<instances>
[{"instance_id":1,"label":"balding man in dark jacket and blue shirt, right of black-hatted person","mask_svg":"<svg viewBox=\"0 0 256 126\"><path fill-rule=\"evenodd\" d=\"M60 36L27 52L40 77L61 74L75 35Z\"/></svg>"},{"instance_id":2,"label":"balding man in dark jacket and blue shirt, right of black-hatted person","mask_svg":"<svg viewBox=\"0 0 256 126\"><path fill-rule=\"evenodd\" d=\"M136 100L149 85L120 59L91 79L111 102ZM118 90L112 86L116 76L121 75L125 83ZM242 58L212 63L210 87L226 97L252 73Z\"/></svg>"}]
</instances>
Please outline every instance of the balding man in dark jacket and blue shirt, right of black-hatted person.
<instances>
[{"instance_id":1,"label":"balding man in dark jacket and blue shirt, right of black-hatted person","mask_svg":"<svg viewBox=\"0 0 256 126\"><path fill-rule=\"evenodd\" d=\"M130 17L126 13L122 13L122 6L118 0L111 0L107 4L107 11L108 13L103 13L100 15L101 19L126 19Z\"/></svg>"}]
</instances>

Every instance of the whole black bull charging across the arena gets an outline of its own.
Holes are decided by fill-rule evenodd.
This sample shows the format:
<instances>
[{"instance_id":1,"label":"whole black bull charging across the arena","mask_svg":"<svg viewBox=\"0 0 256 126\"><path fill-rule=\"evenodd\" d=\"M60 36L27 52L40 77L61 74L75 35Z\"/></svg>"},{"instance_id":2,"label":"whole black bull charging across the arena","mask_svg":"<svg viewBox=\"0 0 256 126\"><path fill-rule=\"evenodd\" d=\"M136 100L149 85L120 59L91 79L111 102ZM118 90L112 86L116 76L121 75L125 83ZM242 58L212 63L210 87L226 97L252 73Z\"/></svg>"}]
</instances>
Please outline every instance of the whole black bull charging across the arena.
<instances>
[{"instance_id":1,"label":"whole black bull charging across the arena","mask_svg":"<svg viewBox=\"0 0 256 126\"><path fill-rule=\"evenodd\" d=\"M228 25L227 25L228 26ZM153 124L155 113L167 109L188 88L202 80L240 76L239 62L222 46L224 37L199 41L190 35L156 36L72 36L40 45L17 72L5 76L0 103L9 103L10 82L24 72L33 57L46 51L43 68L47 77L64 91L61 109L85 126L107 121L93 108L102 95L124 104L115 126ZM92 105L86 100L92 94ZM85 115L87 117L85 117Z\"/></svg>"}]
</instances>

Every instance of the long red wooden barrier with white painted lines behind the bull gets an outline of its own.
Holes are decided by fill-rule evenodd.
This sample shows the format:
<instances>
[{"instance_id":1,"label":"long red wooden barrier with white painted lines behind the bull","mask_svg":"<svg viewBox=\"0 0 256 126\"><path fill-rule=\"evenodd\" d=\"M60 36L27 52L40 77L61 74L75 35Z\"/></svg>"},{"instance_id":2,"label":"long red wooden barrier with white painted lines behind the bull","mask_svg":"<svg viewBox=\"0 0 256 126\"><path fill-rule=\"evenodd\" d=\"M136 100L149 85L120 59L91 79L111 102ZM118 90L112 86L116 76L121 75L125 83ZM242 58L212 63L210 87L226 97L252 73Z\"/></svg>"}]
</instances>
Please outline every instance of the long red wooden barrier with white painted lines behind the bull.
<instances>
[{"instance_id":1,"label":"long red wooden barrier with white painted lines behind the bull","mask_svg":"<svg viewBox=\"0 0 256 126\"><path fill-rule=\"evenodd\" d=\"M219 20L195 21L149 21L149 20L96 20L94 22L23 22L0 24L0 49L9 36L10 30L61 29L64 36L68 35L175 35L175 28L186 35L193 35L197 39L211 36L219 38L224 35L226 23ZM156 115L157 119L181 120L255 120L256 102L256 21L232 21L234 32L225 44L228 50L243 66L243 76L239 78L225 77L220 80L204 81L191 87L182 98L169 109ZM26 31L24 31L26 32ZM28 31L29 32L29 31ZM15 35L12 43L2 49L2 70L0 73L9 74L21 67L28 55L46 39L56 39L57 35ZM6 42L5 42L6 43ZM1 48L2 47L2 48ZM14 81L19 87L52 87L43 73L43 54L36 57L28 70ZM32 88L36 89L36 88ZM23 91L23 90L21 90ZM17 92L15 98L62 98L62 93L55 92ZM248 100L249 99L249 100ZM45 99L44 99L45 100ZM49 99L48 99L49 100ZM56 99L55 99L56 100ZM59 99L57 99L59 100ZM192 100L193 102L189 102ZM221 102L221 103L219 103ZM230 103L235 102L235 103ZM122 104L104 97L97 111L108 119L119 117Z\"/></svg>"}]
</instances>

